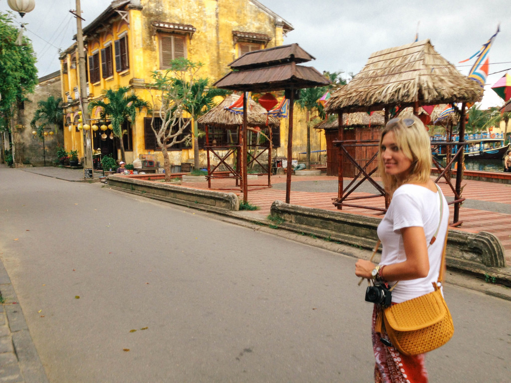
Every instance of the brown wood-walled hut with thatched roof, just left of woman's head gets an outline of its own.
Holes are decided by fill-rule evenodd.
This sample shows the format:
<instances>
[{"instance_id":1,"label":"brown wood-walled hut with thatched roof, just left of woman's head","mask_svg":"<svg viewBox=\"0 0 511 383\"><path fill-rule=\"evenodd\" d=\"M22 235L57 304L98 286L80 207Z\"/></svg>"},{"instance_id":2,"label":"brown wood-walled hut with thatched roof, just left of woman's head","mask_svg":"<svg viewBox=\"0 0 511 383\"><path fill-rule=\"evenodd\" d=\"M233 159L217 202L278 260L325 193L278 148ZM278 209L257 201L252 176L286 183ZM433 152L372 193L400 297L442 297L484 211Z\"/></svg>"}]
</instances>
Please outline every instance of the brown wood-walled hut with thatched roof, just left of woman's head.
<instances>
[{"instance_id":1,"label":"brown wood-walled hut with thatched roof, just left of woman's head","mask_svg":"<svg viewBox=\"0 0 511 383\"><path fill-rule=\"evenodd\" d=\"M334 117L334 115L331 115ZM365 112L344 113L342 115L342 124L349 130L344 131L344 137L350 140L367 140L371 137L379 136L381 127L385 125L383 112L374 112L369 115ZM328 118L325 121L314 126L314 129L324 129L324 136L327 141L327 175L336 176L339 172L339 150L335 148L334 141L337 139L339 130L339 119ZM357 162L366 161L378 151L375 146L349 147L346 148L350 155ZM344 176L355 177L357 169L346 156L343 156ZM368 171L376 167L376 163L369 165Z\"/></svg>"}]
</instances>

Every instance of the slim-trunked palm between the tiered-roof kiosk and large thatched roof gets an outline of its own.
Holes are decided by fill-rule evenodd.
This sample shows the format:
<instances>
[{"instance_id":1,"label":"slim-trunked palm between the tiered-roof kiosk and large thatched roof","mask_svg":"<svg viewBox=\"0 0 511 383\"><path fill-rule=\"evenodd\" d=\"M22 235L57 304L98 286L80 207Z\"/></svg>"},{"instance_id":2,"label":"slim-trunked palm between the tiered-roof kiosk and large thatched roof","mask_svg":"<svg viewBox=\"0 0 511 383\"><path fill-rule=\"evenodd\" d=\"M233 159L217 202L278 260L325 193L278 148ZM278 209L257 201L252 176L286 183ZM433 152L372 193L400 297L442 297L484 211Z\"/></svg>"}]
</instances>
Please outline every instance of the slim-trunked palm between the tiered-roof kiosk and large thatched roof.
<instances>
[{"instance_id":1,"label":"slim-trunked palm between the tiered-roof kiosk and large thatched roof","mask_svg":"<svg viewBox=\"0 0 511 383\"><path fill-rule=\"evenodd\" d=\"M306 88L300 90L300 98L295 101L301 109L306 110L306 124L307 124L307 149L306 149L306 169L310 169L311 163L311 113L313 110L317 111L317 116L321 119L326 117L324 108L318 103L318 100L326 93L329 89L334 86L344 85L346 81L340 76L342 72L329 73L328 71L323 72L323 76L328 78L332 84L330 86L317 86L314 88Z\"/></svg>"}]
</instances>

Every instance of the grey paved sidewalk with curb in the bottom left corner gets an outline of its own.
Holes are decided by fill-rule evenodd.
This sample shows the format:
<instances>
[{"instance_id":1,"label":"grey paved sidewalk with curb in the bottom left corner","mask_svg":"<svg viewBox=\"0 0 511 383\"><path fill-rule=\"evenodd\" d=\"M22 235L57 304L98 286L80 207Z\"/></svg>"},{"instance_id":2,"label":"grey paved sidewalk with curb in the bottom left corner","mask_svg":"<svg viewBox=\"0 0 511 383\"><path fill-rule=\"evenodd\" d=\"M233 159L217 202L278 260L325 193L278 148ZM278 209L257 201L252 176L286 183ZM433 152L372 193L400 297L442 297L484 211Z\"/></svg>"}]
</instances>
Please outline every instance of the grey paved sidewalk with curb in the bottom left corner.
<instances>
[{"instance_id":1,"label":"grey paved sidewalk with curb in the bottom left corner","mask_svg":"<svg viewBox=\"0 0 511 383\"><path fill-rule=\"evenodd\" d=\"M4 319L0 320L0 357L5 361L0 366L0 381L48 383L23 310L2 260L0 282L0 293L5 299L5 303L0 305L0 318Z\"/></svg>"}]
</instances>

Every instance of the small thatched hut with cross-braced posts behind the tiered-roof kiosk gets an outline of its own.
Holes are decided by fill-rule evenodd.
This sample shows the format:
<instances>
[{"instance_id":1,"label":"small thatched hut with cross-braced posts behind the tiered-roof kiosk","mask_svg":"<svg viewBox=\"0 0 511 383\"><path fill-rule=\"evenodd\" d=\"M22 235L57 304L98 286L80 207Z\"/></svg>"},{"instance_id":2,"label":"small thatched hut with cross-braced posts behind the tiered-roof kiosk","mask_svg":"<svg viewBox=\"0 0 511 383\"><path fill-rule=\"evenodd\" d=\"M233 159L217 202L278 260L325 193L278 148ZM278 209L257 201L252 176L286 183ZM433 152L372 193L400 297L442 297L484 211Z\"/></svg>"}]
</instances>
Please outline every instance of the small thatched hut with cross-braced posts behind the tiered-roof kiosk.
<instances>
[{"instance_id":1,"label":"small thatched hut with cross-braced posts behind the tiered-roof kiosk","mask_svg":"<svg viewBox=\"0 0 511 383\"><path fill-rule=\"evenodd\" d=\"M207 183L208 187L212 188L211 180L212 178L235 178L236 185L238 186L238 182L242 177L241 172L241 131L240 129L243 126L243 115L233 113L226 108L233 105L236 101L239 100L241 96L238 94L228 94L225 99L212 108L210 111L202 115L197 119L199 124L203 124L206 131L206 145L204 149L206 149L206 158L207 158ZM259 127L259 129L264 133L269 139L266 141L264 145L257 145L254 147L254 155L252 162L258 162L263 167L261 162L259 162L258 157L262 154L261 152L268 151L268 164L267 164L267 174L268 174L268 184L265 186L271 185L271 139L272 139L272 131L278 127L280 127L280 121L275 117L268 117L266 114L266 109L264 109L260 104L253 101L251 98L248 99L247 103L247 118L246 124L248 129ZM247 144L249 145L249 144ZM223 154L219 153L219 151L223 151ZM225 152L227 151L227 152ZM256 153L257 152L257 153ZM210 163L210 153L213 153L215 157L218 158L219 162L212 166ZM231 166L226 161L230 156L234 156L236 159L236 169L234 166ZM246 157L246 156L245 156ZM217 171L220 165L224 165L232 176L219 175L219 171ZM217 173L215 174L215 171ZM252 185L252 186L263 186L263 185Z\"/></svg>"}]
</instances>

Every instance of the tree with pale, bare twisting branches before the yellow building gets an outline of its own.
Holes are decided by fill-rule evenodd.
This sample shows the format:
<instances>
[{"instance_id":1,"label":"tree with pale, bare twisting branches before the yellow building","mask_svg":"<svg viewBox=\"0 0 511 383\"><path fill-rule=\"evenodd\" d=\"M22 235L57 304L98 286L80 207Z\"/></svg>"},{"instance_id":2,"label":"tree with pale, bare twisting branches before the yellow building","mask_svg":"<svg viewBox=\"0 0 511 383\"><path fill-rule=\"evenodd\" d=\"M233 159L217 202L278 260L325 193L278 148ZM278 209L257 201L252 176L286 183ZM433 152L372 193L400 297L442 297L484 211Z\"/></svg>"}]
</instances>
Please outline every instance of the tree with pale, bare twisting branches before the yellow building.
<instances>
[{"instance_id":1,"label":"tree with pale, bare twisting branches before the yellow building","mask_svg":"<svg viewBox=\"0 0 511 383\"><path fill-rule=\"evenodd\" d=\"M196 115L202 110L201 103L196 100L204 95L199 91L200 79L197 78L202 66L201 63L178 58L170 62L166 71L153 71L151 75L154 81L152 88L157 92L156 95L151 92L151 128L164 158L166 181L171 179L168 149L176 143L190 140L189 134L180 137L191 123L191 118L185 118L184 113Z\"/></svg>"}]
</instances>

